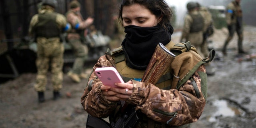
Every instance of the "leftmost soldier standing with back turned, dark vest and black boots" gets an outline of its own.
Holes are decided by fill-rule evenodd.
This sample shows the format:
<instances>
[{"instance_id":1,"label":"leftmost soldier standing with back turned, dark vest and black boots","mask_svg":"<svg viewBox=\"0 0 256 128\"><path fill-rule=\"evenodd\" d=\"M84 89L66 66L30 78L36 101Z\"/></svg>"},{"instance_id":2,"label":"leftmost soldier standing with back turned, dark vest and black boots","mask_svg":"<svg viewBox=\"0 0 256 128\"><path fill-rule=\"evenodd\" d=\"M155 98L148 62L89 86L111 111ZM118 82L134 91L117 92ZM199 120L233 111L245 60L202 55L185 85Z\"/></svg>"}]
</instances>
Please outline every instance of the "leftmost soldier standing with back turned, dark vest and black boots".
<instances>
[{"instance_id":1,"label":"leftmost soldier standing with back turned, dark vest and black boots","mask_svg":"<svg viewBox=\"0 0 256 128\"><path fill-rule=\"evenodd\" d=\"M40 5L40 4L39 4ZM30 21L29 34L34 34L37 42L37 76L35 90L38 92L38 101L44 102L47 72L51 62L53 98L60 97L63 80L63 54L64 45L60 42L60 34L68 30L66 17L54 12L57 7L56 0L42 0L42 7L38 14Z\"/></svg>"}]
</instances>

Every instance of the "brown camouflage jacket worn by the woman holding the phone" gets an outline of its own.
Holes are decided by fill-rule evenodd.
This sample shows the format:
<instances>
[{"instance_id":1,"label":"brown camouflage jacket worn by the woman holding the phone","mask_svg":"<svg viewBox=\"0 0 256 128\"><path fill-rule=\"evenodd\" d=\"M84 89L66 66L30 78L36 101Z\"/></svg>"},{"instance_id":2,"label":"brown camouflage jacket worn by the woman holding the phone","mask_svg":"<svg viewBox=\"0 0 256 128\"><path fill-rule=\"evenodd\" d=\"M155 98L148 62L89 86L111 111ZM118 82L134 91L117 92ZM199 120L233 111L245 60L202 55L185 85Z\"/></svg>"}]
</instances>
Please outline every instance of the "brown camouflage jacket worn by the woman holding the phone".
<instances>
[{"instance_id":1,"label":"brown camouflage jacket worn by the woman holding the phone","mask_svg":"<svg viewBox=\"0 0 256 128\"><path fill-rule=\"evenodd\" d=\"M186 76L189 72L187 66L197 63L194 60L201 58L196 55L196 52L184 52L182 54L176 56L170 67L180 68L181 71L184 71L182 74ZM92 116L107 118L115 112L118 106L118 102L110 102L104 98L100 89L102 82L96 78L96 74L94 73L94 70L98 67L114 66L113 61L113 58L108 54L101 56L94 65L93 72L88 79L87 87L84 89L81 104L84 110ZM178 90L163 90L153 84L145 84L144 82L132 80L133 93L126 102L135 104L136 110L162 124L166 124L169 120L172 120L168 122L170 126L180 126L196 122L201 116L206 104L206 99L201 91L201 85L207 88L207 78L202 75L205 72L204 65L199 66L196 72L191 74L191 79L184 82ZM192 85L192 81L190 81L192 79L196 82L197 92ZM170 114L174 115L170 116Z\"/></svg>"}]
</instances>

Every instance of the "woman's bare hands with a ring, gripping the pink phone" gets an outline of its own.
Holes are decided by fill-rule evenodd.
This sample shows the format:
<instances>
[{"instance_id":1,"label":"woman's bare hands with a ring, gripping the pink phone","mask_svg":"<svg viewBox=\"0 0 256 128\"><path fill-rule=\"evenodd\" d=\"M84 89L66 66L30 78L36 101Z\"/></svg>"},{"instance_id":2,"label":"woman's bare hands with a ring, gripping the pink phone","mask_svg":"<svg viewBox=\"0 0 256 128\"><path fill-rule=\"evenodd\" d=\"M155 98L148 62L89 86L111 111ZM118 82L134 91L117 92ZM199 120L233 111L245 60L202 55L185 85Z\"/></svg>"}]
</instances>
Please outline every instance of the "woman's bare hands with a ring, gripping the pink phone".
<instances>
[{"instance_id":1,"label":"woman's bare hands with a ring, gripping the pink phone","mask_svg":"<svg viewBox=\"0 0 256 128\"><path fill-rule=\"evenodd\" d=\"M132 94L133 85L131 80L126 83L116 83L115 85L120 88L114 88L106 85L101 86L102 94L107 100L112 102L126 100Z\"/></svg>"}]
</instances>

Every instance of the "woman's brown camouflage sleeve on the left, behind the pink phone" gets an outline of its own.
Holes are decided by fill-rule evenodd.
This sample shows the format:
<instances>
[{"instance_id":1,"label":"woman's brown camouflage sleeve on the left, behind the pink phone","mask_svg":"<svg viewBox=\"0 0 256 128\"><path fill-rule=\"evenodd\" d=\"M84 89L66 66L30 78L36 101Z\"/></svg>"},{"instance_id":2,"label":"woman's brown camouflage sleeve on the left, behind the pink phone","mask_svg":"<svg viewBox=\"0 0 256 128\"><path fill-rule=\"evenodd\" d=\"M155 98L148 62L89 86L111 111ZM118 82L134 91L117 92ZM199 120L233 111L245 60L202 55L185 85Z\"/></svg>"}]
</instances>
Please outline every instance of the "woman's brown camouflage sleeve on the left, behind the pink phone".
<instances>
[{"instance_id":1,"label":"woman's brown camouflage sleeve on the left, behind the pink phone","mask_svg":"<svg viewBox=\"0 0 256 128\"><path fill-rule=\"evenodd\" d=\"M84 110L92 116L106 118L116 108L116 102L106 100L102 94L100 87L102 82L96 77L94 70L98 67L112 66L106 56L99 58L98 62L93 67L93 72L88 79L88 84L84 89L84 94L81 97L81 104Z\"/></svg>"}]
</instances>

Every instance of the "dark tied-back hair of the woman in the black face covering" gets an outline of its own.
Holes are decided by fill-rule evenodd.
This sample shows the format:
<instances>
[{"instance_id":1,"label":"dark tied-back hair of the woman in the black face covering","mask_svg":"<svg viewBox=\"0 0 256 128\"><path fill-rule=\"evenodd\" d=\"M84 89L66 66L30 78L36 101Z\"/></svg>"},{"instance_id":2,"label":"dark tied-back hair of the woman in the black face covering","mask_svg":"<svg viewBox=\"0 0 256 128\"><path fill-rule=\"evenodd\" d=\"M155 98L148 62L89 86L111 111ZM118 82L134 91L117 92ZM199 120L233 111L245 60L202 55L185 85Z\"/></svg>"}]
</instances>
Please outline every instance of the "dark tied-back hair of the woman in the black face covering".
<instances>
[{"instance_id":1,"label":"dark tied-back hair of the woman in the black face covering","mask_svg":"<svg viewBox=\"0 0 256 128\"><path fill-rule=\"evenodd\" d=\"M123 24L123 7L130 6L132 4L140 4L145 6L157 18L162 16L162 20L159 22L162 27L167 28L167 26L171 25L172 10L165 0L122 0L118 16L121 24Z\"/></svg>"}]
</instances>

